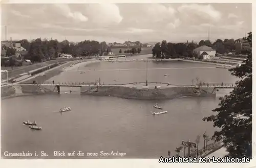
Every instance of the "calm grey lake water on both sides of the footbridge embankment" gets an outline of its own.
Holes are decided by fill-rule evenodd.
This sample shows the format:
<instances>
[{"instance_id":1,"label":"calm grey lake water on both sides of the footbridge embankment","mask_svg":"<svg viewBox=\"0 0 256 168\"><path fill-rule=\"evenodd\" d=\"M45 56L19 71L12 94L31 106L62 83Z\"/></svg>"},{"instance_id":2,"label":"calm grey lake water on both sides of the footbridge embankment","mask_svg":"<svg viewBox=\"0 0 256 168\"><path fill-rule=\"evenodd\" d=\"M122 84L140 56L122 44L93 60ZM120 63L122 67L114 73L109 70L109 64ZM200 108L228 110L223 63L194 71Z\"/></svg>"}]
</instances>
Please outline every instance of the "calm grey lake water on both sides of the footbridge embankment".
<instances>
[{"instance_id":1,"label":"calm grey lake water on both sides of the footbridge embankment","mask_svg":"<svg viewBox=\"0 0 256 168\"><path fill-rule=\"evenodd\" d=\"M152 82L191 84L191 80L197 77L209 83L236 81L227 69L207 68L214 65L169 61L148 62L147 66L148 81ZM101 82L109 84L143 82L145 70L138 69L145 67L145 62L101 62L87 66L79 65L79 70L88 71L85 74L66 71L49 81L92 82L100 78ZM69 70L77 70L77 67ZM168 76L164 77L164 74ZM118 80L114 81L114 79ZM2 157L5 151L9 153L36 151L39 155L37 158L56 159L72 157L54 157L53 151L64 151L66 155L73 151L93 152L99 155L100 151L126 153L124 157L76 158L159 158L166 156L168 150L171 151L171 155L175 155L174 150L181 145L181 140L194 141L197 135L202 135L205 131L212 134L216 130L212 127L212 123L203 122L202 118L210 115L211 110L218 107L219 97L230 91L221 89L216 98L184 97L158 101L159 106L168 112L153 116L151 111L156 111L153 108L156 102L153 101L80 95L79 89L76 88L64 88L61 93L70 89L74 90L74 93L2 100ZM57 112L64 106L70 106L72 111L62 114ZM26 120L35 120L42 130L29 130L27 126L22 125ZM199 144L199 148L202 147L203 138ZM41 151L48 153L49 156L40 156Z\"/></svg>"}]
</instances>

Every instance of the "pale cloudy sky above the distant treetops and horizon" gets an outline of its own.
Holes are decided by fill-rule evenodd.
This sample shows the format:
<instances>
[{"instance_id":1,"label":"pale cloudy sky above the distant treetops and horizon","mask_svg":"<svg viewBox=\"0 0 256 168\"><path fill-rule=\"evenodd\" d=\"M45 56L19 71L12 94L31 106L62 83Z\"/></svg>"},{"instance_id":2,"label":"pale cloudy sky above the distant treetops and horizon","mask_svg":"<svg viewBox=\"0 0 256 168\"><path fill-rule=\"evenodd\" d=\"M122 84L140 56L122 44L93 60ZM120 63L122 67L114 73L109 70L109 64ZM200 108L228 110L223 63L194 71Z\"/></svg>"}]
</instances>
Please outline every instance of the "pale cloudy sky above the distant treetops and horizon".
<instances>
[{"instance_id":1,"label":"pale cloudy sky above the distant treetops and horizon","mask_svg":"<svg viewBox=\"0 0 256 168\"><path fill-rule=\"evenodd\" d=\"M186 42L242 38L251 4L2 4L2 40Z\"/></svg>"}]
</instances>

